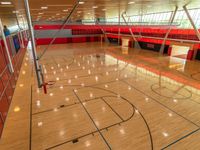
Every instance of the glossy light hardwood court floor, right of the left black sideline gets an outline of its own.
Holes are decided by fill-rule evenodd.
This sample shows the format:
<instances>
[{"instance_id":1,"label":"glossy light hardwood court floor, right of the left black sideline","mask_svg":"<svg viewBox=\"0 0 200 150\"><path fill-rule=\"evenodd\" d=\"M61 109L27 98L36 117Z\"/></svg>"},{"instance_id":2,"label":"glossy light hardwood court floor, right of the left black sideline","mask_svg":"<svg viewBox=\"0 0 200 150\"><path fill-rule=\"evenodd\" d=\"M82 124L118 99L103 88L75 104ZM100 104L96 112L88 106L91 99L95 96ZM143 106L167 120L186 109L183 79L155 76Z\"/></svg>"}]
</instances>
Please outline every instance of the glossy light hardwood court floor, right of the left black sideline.
<instances>
[{"instance_id":1,"label":"glossy light hardwood court floor, right of the left black sideline","mask_svg":"<svg viewBox=\"0 0 200 150\"><path fill-rule=\"evenodd\" d=\"M200 62L76 43L40 63L50 85L44 94L33 73L32 150L200 148Z\"/></svg>"}]
</instances>

